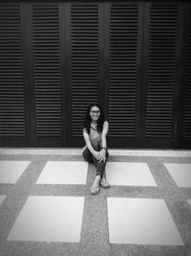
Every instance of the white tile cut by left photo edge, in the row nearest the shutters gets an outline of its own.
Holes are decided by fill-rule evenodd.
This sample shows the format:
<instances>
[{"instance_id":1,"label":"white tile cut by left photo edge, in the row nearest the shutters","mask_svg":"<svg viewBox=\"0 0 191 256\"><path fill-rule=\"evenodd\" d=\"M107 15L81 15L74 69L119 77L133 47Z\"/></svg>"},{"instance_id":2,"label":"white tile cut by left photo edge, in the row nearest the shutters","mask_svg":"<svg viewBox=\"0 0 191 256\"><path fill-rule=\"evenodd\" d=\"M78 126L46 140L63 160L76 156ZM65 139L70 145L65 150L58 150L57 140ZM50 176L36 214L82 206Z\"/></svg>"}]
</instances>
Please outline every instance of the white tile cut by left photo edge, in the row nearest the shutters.
<instances>
[{"instance_id":1,"label":"white tile cut by left photo edge, in the row nearest the shutters","mask_svg":"<svg viewBox=\"0 0 191 256\"><path fill-rule=\"evenodd\" d=\"M0 161L0 183L15 183L30 161Z\"/></svg>"}]
</instances>

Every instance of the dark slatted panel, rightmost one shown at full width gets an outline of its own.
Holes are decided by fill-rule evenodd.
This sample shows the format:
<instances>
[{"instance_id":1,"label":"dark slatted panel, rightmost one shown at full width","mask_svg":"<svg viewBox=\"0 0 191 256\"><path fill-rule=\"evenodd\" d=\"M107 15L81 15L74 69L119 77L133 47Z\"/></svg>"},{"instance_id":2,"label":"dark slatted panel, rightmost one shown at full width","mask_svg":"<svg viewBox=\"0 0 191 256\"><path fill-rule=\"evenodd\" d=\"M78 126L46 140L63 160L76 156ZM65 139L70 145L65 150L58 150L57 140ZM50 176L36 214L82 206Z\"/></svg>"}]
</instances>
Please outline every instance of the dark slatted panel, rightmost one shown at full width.
<instances>
[{"instance_id":1,"label":"dark slatted panel, rightmost one shown at full width","mask_svg":"<svg viewBox=\"0 0 191 256\"><path fill-rule=\"evenodd\" d=\"M146 137L171 138L176 69L176 3L155 3L150 12Z\"/></svg>"}]
</instances>

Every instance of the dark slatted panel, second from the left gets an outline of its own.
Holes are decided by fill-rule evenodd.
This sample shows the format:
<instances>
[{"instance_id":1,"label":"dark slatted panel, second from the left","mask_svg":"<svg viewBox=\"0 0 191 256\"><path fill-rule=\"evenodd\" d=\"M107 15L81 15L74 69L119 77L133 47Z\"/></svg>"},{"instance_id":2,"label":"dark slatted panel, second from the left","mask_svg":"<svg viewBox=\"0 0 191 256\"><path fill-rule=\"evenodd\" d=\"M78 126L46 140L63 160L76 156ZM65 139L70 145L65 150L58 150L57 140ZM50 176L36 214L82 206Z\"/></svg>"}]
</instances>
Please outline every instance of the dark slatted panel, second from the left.
<instances>
[{"instance_id":1,"label":"dark slatted panel, second from the left","mask_svg":"<svg viewBox=\"0 0 191 256\"><path fill-rule=\"evenodd\" d=\"M61 136L58 4L33 4L36 136Z\"/></svg>"}]
</instances>

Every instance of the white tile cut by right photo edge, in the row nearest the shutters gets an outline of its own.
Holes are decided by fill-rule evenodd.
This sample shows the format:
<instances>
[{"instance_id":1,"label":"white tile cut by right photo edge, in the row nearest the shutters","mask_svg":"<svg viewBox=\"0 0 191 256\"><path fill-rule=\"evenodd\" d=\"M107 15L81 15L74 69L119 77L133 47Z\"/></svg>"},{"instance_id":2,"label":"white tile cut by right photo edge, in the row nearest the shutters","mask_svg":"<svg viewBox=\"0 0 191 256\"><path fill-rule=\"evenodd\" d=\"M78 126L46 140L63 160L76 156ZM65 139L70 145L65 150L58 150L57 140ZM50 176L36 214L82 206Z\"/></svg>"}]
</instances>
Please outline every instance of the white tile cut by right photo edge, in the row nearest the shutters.
<instances>
[{"instance_id":1,"label":"white tile cut by right photo edge, in the row nearest the shutters","mask_svg":"<svg viewBox=\"0 0 191 256\"><path fill-rule=\"evenodd\" d=\"M164 164L178 187L191 188L191 164Z\"/></svg>"}]
</instances>

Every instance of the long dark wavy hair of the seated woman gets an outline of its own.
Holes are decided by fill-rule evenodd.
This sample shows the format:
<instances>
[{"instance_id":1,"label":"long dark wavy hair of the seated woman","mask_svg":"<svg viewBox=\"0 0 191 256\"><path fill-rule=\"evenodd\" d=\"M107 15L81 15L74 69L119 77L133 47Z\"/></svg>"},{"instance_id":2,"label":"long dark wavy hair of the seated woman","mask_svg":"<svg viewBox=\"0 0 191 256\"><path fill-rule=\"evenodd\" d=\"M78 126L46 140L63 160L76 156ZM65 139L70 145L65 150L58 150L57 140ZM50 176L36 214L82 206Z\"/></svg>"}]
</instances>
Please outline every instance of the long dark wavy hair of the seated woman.
<instances>
[{"instance_id":1,"label":"long dark wavy hair of the seated woman","mask_svg":"<svg viewBox=\"0 0 191 256\"><path fill-rule=\"evenodd\" d=\"M85 120L84 120L84 123L83 123L83 128L86 129L88 134L90 134L91 121L92 121L91 116L90 116L90 110L93 106L98 107L99 110L100 110L100 116L97 120L97 131L102 131L103 130L103 123L105 121L105 116L104 116L102 108L97 104L89 105L88 108L87 108L87 111L86 111L86 114L85 114Z\"/></svg>"}]
</instances>

